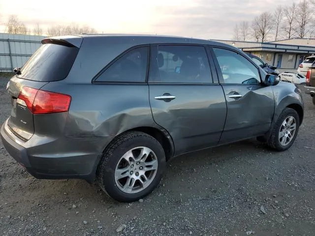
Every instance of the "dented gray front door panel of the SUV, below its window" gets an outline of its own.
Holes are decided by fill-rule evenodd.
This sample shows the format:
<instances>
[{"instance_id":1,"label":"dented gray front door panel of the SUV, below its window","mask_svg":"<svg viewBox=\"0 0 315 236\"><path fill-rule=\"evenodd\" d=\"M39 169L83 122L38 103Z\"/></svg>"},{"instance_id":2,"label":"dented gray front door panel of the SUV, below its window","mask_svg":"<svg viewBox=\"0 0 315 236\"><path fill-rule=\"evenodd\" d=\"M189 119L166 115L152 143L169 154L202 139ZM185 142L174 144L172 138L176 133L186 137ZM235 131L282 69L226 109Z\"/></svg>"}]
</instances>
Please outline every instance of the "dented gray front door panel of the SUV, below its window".
<instances>
[{"instance_id":1,"label":"dented gray front door panel of the SUV, below its window","mask_svg":"<svg viewBox=\"0 0 315 236\"><path fill-rule=\"evenodd\" d=\"M227 117L221 143L268 131L275 107L270 87L223 85L223 88L227 101ZM229 94L241 94L242 97L234 99Z\"/></svg>"}]
</instances>

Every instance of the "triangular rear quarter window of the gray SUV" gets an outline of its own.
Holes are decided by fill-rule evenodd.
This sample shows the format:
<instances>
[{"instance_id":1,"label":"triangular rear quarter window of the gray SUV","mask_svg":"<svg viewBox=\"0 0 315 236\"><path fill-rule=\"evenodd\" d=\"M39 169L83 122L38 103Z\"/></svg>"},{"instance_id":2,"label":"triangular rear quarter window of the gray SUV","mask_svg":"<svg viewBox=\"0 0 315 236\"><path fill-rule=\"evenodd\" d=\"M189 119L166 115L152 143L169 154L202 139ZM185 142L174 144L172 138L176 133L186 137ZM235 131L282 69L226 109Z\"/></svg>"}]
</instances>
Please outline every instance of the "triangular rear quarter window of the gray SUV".
<instances>
[{"instance_id":1,"label":"triangular rear quarter window of the gray SUV","mask_svg":"<svg viewBox=\"0 0 315 236\"><path fill-rule=\"evenodd\" d=\"M126 53L110 65L97 82L145 82L148 63L148 47L140 47Z\"/></svg>"}]
</instances>

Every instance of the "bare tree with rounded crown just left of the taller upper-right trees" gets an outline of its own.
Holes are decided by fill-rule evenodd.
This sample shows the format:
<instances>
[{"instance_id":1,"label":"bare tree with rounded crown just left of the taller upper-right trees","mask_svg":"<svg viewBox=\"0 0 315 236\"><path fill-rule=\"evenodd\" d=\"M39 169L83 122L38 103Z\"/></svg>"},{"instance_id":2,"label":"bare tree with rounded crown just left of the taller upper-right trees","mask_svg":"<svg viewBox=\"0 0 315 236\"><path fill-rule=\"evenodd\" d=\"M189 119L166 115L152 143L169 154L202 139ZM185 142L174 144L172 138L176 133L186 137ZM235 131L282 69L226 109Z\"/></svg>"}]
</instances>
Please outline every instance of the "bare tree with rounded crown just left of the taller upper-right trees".
<instances>
[{"instance_id":1,"label":"bare tree with rounded crown just left of the taller upper-right trees","mask_svg":"<svg viewBox=\"0 0 315 236\"><path fill-rule=\"evenodd\" d=\"M257 41L265 42L273 29L273 17L270 12L263 12L253 21L254 37Z\"/></svg>"}]
</instances>

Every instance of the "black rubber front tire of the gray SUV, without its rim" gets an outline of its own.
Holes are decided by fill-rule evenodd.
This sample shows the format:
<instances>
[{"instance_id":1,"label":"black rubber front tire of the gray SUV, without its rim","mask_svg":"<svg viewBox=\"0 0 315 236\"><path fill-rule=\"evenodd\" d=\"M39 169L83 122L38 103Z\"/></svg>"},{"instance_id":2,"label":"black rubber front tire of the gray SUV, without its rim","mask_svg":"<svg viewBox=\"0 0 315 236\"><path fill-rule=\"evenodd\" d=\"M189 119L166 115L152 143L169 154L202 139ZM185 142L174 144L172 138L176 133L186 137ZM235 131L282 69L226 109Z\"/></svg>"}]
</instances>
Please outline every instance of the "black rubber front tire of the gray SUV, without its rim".
<instances>
[{"instance_id":1,"label":"black rubber front tire of the gray SUV, without its rim","mask_svg":"<svg viewBox=\"0 0 315 236\"><path fill-rule=\"evenodd\" d=\"M282 123L289 116L292 116L295 118L296 129L295 129L295 133L294 133L294 136L293 136L291 142L288 143L287 145L283 146L283 145L281 145L280 140L279 140L279 132L280 132L280 128L281 128ZM277 122L275 123L275 125L273 127L271 135L270 135L269 139L267 140L267 145L270 148L276 149L277 151L284 151L284 150L290 148L296 139L296 136L297 136L298 131L299 131L299 126L300 126L300 119L299 119L299 115L297 114L297 112L294 109L285 108L283 110L283 112L280 114Z\"/></svg>"}]
</instances>

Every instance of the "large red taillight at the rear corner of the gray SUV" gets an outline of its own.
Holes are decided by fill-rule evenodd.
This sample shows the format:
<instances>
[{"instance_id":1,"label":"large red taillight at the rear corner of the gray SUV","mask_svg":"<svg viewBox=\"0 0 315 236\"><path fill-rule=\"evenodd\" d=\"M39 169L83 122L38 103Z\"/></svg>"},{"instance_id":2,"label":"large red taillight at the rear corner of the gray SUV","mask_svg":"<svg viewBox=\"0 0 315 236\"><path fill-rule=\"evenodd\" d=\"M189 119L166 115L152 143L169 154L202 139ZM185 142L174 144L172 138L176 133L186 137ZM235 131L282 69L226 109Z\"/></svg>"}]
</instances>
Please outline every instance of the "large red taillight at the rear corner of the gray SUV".
<instances>
[{"instance_id":1,"label":"large red taillight at the rear corner of the gray SUV","mask_svg":"<svg viewBox=\"0 0 315 236\"><path fill-rule=\"evenodd\" d=\"M69 95L29 87L23 87L18 99L25 102L32 114L67 112L71 102Z\"/></svg>"}]
</instances>

